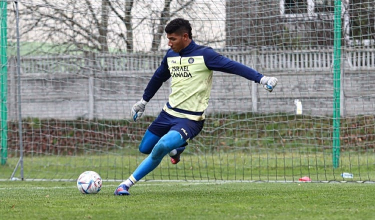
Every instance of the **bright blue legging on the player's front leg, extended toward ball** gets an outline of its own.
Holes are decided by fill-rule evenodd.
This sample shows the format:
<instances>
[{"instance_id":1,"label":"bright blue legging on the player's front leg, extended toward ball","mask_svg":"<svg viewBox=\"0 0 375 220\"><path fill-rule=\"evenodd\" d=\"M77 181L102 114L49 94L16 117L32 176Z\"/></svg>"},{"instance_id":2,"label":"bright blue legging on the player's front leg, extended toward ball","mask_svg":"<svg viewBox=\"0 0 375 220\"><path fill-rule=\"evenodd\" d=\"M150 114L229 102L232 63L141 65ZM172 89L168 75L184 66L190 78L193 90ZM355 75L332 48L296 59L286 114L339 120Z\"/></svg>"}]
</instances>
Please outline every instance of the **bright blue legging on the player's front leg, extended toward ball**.
<instances>
[{"instance_id":1,"label":"bright blue legging on the player's front leg, extended toward ball","mask_svg":"<svg viewBox=\"0 0 375 220\"><path fill-rule=\"evenodd\" d=\"M170 130L153 147L151 153L134 170L133 176L138 181L151 172L161 162L161 159L172 149L180 147L186 141L176 130Z\"/></svg>"}]
</instances>

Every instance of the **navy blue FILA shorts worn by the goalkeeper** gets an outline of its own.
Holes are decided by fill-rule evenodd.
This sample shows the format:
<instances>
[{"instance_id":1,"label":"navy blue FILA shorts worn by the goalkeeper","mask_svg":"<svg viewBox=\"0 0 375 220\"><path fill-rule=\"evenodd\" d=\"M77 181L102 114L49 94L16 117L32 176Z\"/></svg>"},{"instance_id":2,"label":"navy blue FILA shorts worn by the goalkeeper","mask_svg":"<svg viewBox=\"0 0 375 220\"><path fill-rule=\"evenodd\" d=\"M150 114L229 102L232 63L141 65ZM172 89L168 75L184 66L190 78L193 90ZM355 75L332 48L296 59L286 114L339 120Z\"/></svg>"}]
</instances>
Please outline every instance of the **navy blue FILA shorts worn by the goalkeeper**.
<instances>
[{"instance_id":1,"label":"navy blue FILA shorts worn by the goalkeeper","mask_svg":"<svg viewBox=\"0 0 375 220\"><path fill-rule=\"evenodd\" d=\"M198 135L203 128L203 123L204 120L175 117L161 110L159 116L148 126L148 130L160 137L169 130L176 130L188 141Z\"/></svg>"}]
</instances>

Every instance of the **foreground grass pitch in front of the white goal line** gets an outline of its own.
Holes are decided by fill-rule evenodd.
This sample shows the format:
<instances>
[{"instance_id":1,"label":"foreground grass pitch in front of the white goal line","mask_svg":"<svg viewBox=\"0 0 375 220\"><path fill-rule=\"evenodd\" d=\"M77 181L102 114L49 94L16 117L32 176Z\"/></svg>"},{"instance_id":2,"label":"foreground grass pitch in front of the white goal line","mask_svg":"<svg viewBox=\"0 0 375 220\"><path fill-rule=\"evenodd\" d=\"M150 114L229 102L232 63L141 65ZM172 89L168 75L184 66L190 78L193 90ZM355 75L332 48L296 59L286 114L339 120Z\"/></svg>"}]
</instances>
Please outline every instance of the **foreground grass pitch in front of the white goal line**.
<instances>
[{"instance_id":1,"label":"foreground grass pitch in front of the white goal line","mask_svg":"<svg viewBox=\"0 0 375 220\"><path fill-rule=\"evenodd\" d=\"M74 181L0 181L1 219L371 219L370 183L118 182L81 194Z\"/></svg>"}]
</instances>

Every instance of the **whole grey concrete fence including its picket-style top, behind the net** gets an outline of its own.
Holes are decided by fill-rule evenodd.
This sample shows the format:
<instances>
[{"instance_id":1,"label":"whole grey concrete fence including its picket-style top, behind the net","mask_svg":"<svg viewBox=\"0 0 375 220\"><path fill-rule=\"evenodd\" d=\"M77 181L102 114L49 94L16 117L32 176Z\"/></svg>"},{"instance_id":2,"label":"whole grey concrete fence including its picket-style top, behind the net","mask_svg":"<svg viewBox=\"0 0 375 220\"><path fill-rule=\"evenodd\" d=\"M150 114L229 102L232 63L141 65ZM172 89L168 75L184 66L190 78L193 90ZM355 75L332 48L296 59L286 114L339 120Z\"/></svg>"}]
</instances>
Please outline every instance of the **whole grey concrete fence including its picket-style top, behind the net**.
<instances>
[{"instance_id":1,"label":"whole grey concrete fence including its picket-style top, behind the net","mask_svg":"<svg viewBox=\"0 0 375 220\"><path fill-rule=\"evenodd\" d=\"M275 92L254 89L256 84L241 77L215 72L207 112L290 112L294 100L301 100L304 113L332 112L332 48L217 50L221 54L279 78ZM375 48L342 48L341 115L373 113ZM55 55L21 57L21 103L25 117L109 117L128 116L158 67L163 53ZM16 116L15 58L9 58L9 117ZM169 93L162 86L150 104L156 115Z\"/></svg>"}]
</instances>

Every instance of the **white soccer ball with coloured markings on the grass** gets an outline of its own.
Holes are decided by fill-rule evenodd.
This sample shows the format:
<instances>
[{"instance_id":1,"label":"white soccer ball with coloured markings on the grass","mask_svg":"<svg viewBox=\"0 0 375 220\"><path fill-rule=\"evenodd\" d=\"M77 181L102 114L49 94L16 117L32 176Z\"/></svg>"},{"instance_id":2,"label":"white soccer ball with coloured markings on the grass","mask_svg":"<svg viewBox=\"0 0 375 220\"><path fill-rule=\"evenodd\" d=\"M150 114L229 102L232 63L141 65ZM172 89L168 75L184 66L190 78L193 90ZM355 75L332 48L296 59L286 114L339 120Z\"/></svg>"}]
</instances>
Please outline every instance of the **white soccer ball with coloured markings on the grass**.
<instances>
[{"instance_id":1,"label":"white soccer ball with coloured markings on the grass","mask_svg":"<svg viewBox=\"0 0 375 220\"><path fill-rule=\"evenodd\" d=\"M96 194L101 189L101 177L95 171L84 171L77 179L77 188L83 194Z\"/></svg>"}]
</instances>

